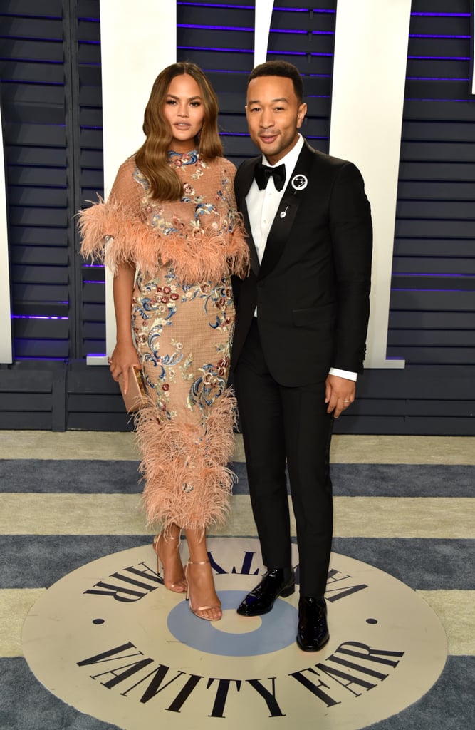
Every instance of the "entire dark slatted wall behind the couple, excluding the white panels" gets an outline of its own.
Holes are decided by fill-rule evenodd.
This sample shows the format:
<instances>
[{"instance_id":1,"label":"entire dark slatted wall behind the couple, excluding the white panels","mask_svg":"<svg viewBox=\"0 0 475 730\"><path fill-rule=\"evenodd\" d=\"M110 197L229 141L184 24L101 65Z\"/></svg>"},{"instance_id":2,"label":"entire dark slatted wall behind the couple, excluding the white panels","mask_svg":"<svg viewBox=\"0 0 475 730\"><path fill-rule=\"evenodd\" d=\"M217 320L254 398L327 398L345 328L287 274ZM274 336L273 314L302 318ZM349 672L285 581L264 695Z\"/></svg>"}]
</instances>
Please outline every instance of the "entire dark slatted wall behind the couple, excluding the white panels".
<instances>
[{"instance_id":1,"label":"entire dark slatted wall behind the couple, excluding the white panels","mask_svg":"<svg viewBox=\"0 0 475 730\"><path fill-rule=\"evenodd\" d=\"M387 350L406 368L367 371L339 432L475 431L471 7L412 2ZM268 58L304 76L303 131L324 152L335 10L276 0L269 39ZM237 165L255 154L244 116L252 4L177 2L177 23L177 58L212 81ZM73 218L103 188L99 0L3 0L0 49L15 338L15 363L0 365L0 428L128 429L107 369L85 366L105 350L104 270L77 255Z\"/></svg>"}]
</instances>

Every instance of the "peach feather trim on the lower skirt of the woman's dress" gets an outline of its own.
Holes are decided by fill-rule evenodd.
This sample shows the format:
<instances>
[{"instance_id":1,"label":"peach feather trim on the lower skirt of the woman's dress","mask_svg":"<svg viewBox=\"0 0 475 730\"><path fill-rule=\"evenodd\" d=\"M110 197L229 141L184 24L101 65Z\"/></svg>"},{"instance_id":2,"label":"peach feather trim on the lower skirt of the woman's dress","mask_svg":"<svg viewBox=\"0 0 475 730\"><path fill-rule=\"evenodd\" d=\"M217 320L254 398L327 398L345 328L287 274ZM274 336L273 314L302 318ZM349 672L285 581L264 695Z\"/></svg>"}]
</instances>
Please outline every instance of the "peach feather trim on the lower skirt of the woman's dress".
<instances>
[{"instance_id":1,"label":"peach feather trim on the lower skirt of the woman's dress","mask_svg":"<svg viewBox=\"0 0 475 730\"><path fill-rule=\"evenodd\" d=\"M229 512L236 476L228 469L232 458L236 401L231 391L215 401L205 430L188 419L158 420L150 403L136 417L136 438L145 479L143 505L150 526L167 532L171 525L204 534Z\"/></svg>"}]
</instances>

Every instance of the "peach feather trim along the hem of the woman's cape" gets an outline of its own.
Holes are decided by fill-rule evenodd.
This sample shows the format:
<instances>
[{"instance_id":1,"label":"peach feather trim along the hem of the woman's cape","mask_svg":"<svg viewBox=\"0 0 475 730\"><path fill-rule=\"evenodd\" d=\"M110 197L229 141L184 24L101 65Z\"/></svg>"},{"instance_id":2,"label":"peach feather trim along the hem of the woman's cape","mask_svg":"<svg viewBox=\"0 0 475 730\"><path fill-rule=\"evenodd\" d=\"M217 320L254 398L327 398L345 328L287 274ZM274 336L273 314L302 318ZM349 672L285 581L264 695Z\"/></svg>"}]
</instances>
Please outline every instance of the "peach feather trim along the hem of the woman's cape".
<instances>
[{"instance_id":1,"label":"peach feather trim along the hem of the woman's cape","mask_svg":"<svg viewBox=\"0 0 475 730\"><path fill-rule=\"evenodd\" d=\"M163 235L123 204L101 199L79 218L82 255L101 261L112 272L119 264L134 263L153 278L161 266L173 266L182 283L218 283L223 276L244 277L249 270L249 248L239 221L231 232L209 226Z\"/></svg>"}]
</instances>

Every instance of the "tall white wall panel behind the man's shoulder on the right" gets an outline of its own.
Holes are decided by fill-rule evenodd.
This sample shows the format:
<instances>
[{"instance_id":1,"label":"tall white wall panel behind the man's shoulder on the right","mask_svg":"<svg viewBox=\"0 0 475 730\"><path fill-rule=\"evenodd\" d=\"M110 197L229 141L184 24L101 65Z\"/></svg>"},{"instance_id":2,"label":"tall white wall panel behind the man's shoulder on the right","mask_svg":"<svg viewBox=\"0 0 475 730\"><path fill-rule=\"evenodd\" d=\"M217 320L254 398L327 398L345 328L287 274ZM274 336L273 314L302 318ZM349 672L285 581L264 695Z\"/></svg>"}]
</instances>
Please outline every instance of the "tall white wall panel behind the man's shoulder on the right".
<instances>
[{"instance_id":1,"label":"tall white wall panel behind the man's shoulder on the right","mask_svg":"<svg viewBox=\"0 0 475 730\"><path fill-rule=\"evenodd\" d=\"M386 359L411 0L339 0L330 153L358 165L374 224L371 318L366 367Z\"/></svg>"}]
</instances>

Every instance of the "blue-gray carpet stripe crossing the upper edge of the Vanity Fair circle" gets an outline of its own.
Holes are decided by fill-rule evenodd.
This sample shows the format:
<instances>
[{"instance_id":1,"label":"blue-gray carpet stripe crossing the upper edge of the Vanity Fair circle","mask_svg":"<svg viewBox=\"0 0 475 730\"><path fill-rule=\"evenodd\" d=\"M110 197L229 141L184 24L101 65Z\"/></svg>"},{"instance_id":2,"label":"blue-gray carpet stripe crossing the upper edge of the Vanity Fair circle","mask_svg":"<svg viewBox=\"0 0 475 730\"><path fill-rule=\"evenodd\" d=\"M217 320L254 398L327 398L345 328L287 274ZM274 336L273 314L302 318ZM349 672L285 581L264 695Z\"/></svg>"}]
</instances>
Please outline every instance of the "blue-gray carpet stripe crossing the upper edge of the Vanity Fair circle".
<instances>
[{"instance_id":1,"label":"blue-gray carpet stripe crossing the upper edge of the Vanity Fair circle","mask_svg":"<svg viewBox=\"0 0 475 730\"><path fill-rule=\"evenodd\" d=\"M150 535L0 535L0 588L42 588ZM336 537L333 551L374 565L414 590L473 591L474 540Z\"/></svg>"}]
</instances>

